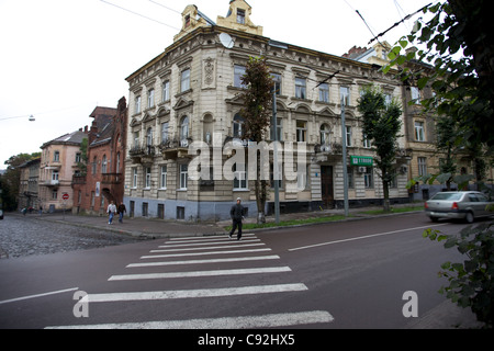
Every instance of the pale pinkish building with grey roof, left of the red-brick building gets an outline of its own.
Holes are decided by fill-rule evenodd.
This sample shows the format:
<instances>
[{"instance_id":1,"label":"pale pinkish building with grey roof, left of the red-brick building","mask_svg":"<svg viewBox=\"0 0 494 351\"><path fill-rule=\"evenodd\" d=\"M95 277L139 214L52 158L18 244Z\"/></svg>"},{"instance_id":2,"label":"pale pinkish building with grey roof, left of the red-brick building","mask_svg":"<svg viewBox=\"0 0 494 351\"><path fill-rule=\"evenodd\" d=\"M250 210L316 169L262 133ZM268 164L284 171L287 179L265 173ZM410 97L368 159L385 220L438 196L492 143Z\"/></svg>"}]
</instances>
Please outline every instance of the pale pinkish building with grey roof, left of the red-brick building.
<instances>
[{"instance_id":1,"label":"pale pinkish building with grey roof, left of the red-brick building","mask_svg":"<svg viewBox=\"0 0 494 351\"><path fill-rule=\"evenodd\" d=\"M80 144L86 137L87 131L81 128L42 145L38 201L43 212L72 208L72 174L81 158Z\"/></svg>"}]
</instances>

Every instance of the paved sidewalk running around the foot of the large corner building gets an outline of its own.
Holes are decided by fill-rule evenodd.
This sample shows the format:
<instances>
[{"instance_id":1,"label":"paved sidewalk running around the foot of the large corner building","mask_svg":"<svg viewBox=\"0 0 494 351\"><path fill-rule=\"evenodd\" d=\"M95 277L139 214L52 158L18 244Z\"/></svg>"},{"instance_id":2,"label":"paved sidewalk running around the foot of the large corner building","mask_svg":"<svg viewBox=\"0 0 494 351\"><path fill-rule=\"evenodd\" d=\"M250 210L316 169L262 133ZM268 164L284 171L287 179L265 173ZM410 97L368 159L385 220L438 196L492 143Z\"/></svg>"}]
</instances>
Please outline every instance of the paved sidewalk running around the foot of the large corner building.
<instances>
[{"instance_id":1,"label":"paved sidewalk running around the foot of the large corner building","mask_svg":"<svg viewBox=\"0 0 494 351\"><path fill-rule=\"evenodd\" d=\"M411 206L411 204L406 205L394 205L393 207L400 206ZM367 215L362 212L371 211L371 210L381 210L382 207L360 207L360 208L350 208L349 217L341 220L355 220L359 218L370 218L375 217L375 215ZM293 220L293 219L305 219L305 218L316 218L316 217L327 217L327 216L344 216L345 211L341 208L338 210L324 210L324 211L315 211L315 212L303 212L303 213L291 213L291 214L281 214L280 222L283 220ZM389 214L396 215L396 214ZM389 216L382 215L382 216ZM119 223L119 218L115 216L113 219L113 224L108 224L108 216L88 216L88 215L72 215L70 213L66 213L65 215L61 213L56 214L31 214L27 215L30 217L35 217L40 220L53 220L58 223L70 224L75 226L88 227L88 228L97 228L103 230L111 230L115 233L127 234L132 236L138 237L147 237L147 238L157 238L157 237L181 237L181 236L207 236L207 235L225 235L225 227L232 225L232 220L221 220L216 223L192 223L186 220L176 220L176 219L157 219L157 218L145 218L145 217L124 217L123 223ZM255 224L257 222L256 217L247 217L245 219L245 224ZM274 223L274 216L267 216L267 223ZM254 230L268 230L271 228L263 229L254 229ZM249 230L250 231L250 230Z\"/></svg>"}]
</instances>

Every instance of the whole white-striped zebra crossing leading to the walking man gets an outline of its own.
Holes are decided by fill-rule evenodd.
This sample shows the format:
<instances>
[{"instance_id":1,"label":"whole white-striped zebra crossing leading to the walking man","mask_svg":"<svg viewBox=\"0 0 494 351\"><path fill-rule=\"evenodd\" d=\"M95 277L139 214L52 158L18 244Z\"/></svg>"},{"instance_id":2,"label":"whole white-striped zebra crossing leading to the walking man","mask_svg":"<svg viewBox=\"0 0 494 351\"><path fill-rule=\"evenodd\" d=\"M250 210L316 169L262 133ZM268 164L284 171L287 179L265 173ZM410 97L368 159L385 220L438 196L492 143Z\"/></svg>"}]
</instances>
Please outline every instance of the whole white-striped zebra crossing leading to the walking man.
<instances>
[{"instance_id":1,"label":"whole white-striped zebra crossing leading to the walking man","mask_svg":"<svg viewBox=\"0 0 494 351\"><path fill-rule=\"evenodd\" d=\"M158 282L162 286L170 286L173 282L202 278L235 278L234 286L215 286L215 280L204 280L201 288L180 288L160 291L112 291L105 293L89 293L80 303L93 304L127 303L144 301L193 299L193 298L225 298L232 296L257 296L263 294L303 293L308 288L300 282L292 282L291 268L280 264L280 257L271 252L255 234L245 234L242 241L228 237L180 237L170 238L157 248L142 256L137 262L128 263L125 274L114 274L108 279L109 284L115 282ZM234 264L234 267L232 267ZM256 276L282 276L283 282L260 284ZM287 275L282 275L287 274ZM261 279L261 282L266 279ZM203 282L203 281L200 281ZM242 285L239 285L239 283ZM197 287L197 284L194 285ZM115 286L115 290L117 287ZM158 320L146 322L94 324L60 326L50 328L265 328L288 327L307 324L330 322L333 316L324 310L280 312L255 316L225 316L220 318L198 318L180 320Z\"/></svg>"}]
</instances>

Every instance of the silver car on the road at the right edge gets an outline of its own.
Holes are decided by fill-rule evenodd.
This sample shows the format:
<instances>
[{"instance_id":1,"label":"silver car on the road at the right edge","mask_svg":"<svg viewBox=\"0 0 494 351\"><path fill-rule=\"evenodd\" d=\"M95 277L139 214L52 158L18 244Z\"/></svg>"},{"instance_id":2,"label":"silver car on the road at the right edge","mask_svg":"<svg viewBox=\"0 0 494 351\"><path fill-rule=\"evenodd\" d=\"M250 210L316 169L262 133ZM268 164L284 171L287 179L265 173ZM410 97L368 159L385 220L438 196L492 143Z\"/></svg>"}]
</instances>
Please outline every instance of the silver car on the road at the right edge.
<instances>
[{"instance_id":1,"label":"silver car on the road at the right edge","mask_svg":"<svg viewBox=\"0 0 494 351\"><path fill-rule=\"evenodd\" d=\"M473 223L478 217L494 215L487 206L494 202L478 191L446 191L434 195L424 204L426 215L430 220L439 218L464 219Z\"/></svg>"}]
</instances>

